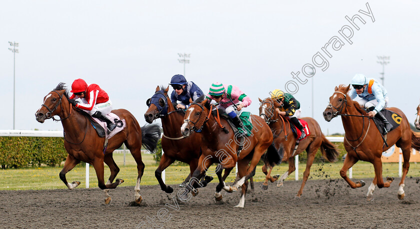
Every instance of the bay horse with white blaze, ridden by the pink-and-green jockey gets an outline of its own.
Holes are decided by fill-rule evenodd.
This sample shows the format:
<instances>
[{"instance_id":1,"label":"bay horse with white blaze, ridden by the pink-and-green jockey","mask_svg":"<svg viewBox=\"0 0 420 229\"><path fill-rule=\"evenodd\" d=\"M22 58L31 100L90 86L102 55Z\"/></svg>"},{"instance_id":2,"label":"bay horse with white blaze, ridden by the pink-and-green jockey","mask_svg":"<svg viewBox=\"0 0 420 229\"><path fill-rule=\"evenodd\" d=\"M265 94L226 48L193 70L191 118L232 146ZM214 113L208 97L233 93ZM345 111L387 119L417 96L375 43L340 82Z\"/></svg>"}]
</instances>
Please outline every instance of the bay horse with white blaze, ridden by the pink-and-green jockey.
<instances>
[{"instance_id":1,"label":"bay horse with white blaze, ridden by the pink-and-green jockey","mask_svg":"<svg viewBox=\"0 0 420 229\"><path fill-rule=\"evenodd\" d=\"M193 102L185 111L184 123L181 126L182 134L191 137L196 135L190 135L192 132L201 129L202 153L198 160L198 167L192 173L189 185L186 186L181 197L185 197L194 186L194 183L200 179L211 164L219 163L215 171L219 183L214 197L216 200L221 200L221 189L231 192L237 191L238 187L241 186L240 200L235 207L243 207L248 187L247 180L253 175L254 168L261 155L271 145L271 130L262 118L257 115L250 115L253 124L251 135L242 136L244 140L242 143L243 148L237 155L238 144L242 141L237 138L237 134L233 132L226 119L216 118L214 115L211 115L212 109L207 101L207 99L204 99L200 102ZM236 162L239 178L235 180L232 186L228 186L224 183L224 179ZM250 165L248 166L249 163ZM222 169L225 169L223 177L221 176Z\"/></svg>"}]
</instances>

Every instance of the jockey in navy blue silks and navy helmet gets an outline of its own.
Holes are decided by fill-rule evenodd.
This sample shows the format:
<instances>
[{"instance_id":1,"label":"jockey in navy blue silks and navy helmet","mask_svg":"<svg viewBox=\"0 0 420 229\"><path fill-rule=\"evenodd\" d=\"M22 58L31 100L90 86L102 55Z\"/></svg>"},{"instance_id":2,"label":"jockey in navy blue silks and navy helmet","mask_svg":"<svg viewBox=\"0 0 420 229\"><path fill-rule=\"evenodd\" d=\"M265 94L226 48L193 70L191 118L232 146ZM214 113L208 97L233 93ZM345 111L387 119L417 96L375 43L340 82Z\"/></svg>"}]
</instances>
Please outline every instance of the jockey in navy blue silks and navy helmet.
<instances>
[{"instance_id":1,"label":"jockey in navy blue silks and navy helmet","mask_svg":"<svg viewBox=\"0 0 420 229\"><path fill-rule=\"evenodd\" d=\"M177 103L177 101L180 101L180 103L176 105L176 108L186 109L189 105L190 98L194 101L204 94L194 82L187 82L185 77L181 74L172 76L169 85L173 88L173 91L170 94L170 101L174 104Z\"/></svg>"}]
</instances>

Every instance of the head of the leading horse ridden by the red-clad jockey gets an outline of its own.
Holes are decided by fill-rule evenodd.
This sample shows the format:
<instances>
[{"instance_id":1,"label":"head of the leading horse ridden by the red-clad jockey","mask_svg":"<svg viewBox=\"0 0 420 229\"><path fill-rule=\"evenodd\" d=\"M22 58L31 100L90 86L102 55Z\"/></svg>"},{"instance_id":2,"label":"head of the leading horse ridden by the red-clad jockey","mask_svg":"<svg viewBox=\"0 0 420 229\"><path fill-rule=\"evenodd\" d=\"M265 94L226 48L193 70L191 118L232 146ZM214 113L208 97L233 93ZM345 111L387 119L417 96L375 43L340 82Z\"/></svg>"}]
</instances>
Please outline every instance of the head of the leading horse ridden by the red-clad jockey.
<instances>
[{"instance_id":1,"label":"head of the leading horse ridden by the red-clad jockey","mask_svg":"<svg viewBox=\"0 0 420 229\"><path fill-rule=\"evenodd\" d=\"M62 99L63 95L67 98L65 91L66 88L64 83L60 82L53 90L45 95L41 107L35 112L37 121L43 123L45 119L49 119L51 117L54 119L54 115L59 115L61 113L62 104L69 104L67 99Z\"/></svg>"}]
</instances>

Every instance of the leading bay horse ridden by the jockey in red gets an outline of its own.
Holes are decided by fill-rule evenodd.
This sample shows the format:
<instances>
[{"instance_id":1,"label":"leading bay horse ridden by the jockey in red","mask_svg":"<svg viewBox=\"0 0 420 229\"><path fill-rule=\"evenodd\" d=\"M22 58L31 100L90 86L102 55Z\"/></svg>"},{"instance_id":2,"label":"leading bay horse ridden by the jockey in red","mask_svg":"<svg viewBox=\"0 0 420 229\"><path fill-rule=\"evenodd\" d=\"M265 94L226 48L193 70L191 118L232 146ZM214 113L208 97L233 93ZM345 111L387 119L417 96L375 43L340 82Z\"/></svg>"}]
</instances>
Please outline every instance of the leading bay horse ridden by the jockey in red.
<instances>
[{"instance_id":1,"label":"leading bay horse ridden by the jockey in red","mask_svg":"<svg viewBox=\"0 0 420 229\"><path fill-rule=\"evenodd\" d=\"M147 150L153 151L160 137L160 127L158 125L144 125L140 128L137 120L128 110L112 110L112 113L118 115L121 120L125 119L126 126L123 130L108 139L106 150L103 150L105 138L98 136L86 116L88 114L85 111L73 107L67 99L67 89L64 83L61 82L44 97L41 107L35 113L36 120L41 123L49 118L56 120L53 117L54 115L58 115L58 120L61 121L64 129L64 148L68 155L59 173L60 179L71 190L77 187L80 182L67 182L65 174L80 161L92 164L96 172L99 188L105 189L105 204L108 204L111 201L111 197L107 189L115 188L124 181L123 179L117 178L113 182L118 174L119 168L112 158L113 150L124 143L137 163L138 175L134 187L134 200L139 204L142 200L140 195L140 180L144 171L144 163L141 160L141 145ZM110 170L110 176L106 184L103 177L103 162L109 166Z\"/></svg>"}]
</instances>

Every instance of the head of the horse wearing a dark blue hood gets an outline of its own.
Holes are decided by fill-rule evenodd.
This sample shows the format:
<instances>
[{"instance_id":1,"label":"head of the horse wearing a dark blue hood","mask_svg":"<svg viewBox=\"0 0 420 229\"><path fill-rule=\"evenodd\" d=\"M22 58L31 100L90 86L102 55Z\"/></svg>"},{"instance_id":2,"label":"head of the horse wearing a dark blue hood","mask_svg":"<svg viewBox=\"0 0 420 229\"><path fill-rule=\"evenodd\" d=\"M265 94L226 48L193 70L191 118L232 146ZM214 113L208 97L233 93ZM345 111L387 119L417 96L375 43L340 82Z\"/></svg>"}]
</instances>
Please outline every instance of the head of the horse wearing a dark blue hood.
<instances>
[{"instance_id":1,"label":"head of the horse wearing a dark blue hood","mask_svg":"<svg viewBox=\"0 0 420 229\"><path fill-rule=\"evenodd\" d=\"M163 86L157 86L153 96L147 99L146 105L148 106L148 109L144 113L144 119L148 123L151 123L153 120L161 116L165 116L168 109L170 109L169 107L172 107L172 102L167 96L168 90L169 86L167 86L166 89L163 89Z\"/></svg>"}]
</instances>

